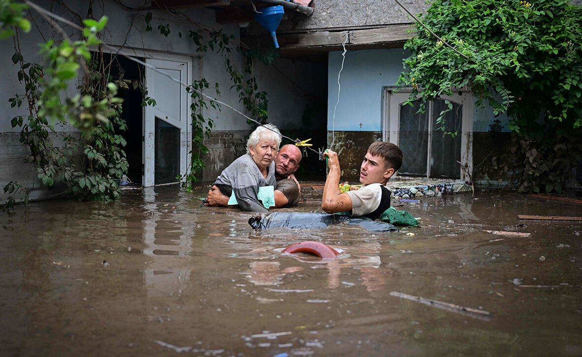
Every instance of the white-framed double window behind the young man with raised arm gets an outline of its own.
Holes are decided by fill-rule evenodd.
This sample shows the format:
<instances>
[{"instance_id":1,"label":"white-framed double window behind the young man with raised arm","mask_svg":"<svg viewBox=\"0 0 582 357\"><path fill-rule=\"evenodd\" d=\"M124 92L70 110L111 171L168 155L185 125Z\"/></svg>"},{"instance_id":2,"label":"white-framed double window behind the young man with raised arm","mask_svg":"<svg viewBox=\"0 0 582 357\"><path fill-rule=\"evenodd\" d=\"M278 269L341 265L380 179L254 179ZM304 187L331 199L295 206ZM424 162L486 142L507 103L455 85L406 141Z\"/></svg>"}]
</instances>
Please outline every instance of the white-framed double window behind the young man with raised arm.
<instances>
[{"instance_id":1,"label":"white-framed double window behind the young man with raised arm","mask_svg":"<svg viewBox=\"0 0 582 357\"><path fill-rule=\"evenodd\" d=\"M399 174L433 177L435 179L470 180L473 169L472 156L472 97L467 92L427 103L424 113L420 99L404 105L410 92L385 93L386 117L384 140L398 145L404 154ZM452 110L445 114L444 131L437 123L449 101ZM445 131L457 135L445 134Z\"/></svg>"}]
</instances>

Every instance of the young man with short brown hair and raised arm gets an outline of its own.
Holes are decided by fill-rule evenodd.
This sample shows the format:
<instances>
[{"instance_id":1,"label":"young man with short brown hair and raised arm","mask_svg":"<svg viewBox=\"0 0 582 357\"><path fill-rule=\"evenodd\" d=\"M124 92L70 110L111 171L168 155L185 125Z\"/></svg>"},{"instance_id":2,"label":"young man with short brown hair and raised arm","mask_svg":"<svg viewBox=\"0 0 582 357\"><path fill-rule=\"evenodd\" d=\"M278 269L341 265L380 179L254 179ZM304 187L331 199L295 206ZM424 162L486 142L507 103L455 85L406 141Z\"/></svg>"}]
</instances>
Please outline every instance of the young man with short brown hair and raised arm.
<instances>
[{"instance_id":1,"label":"young man with short brown hair and raised arm","mask_svg":"<svg viewBox=\"0 0 582 357\"><path fill-rule=\"evenodd\" d=\"M391 142L376 141L368 148L360 166L360 190L342 193L339 190L338 153L326 150L329 174L325 180L321 208L327 213L349 211L350 215L378 219L390 207L391 192L385 187L402 166L402 151Z\"/></svg>"}]
</instances>

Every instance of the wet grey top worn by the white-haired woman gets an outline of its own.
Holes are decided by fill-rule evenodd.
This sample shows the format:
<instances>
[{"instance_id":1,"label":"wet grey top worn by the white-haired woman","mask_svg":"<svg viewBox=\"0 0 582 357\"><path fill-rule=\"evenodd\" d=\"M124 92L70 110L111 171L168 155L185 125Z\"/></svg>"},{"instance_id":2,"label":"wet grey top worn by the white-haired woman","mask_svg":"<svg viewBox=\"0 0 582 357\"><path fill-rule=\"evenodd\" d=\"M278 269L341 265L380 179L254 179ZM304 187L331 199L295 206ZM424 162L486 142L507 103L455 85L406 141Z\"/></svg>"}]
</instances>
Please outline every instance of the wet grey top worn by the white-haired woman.
<instances>
[{"instance_id":1,"label":"wet grey top worn by the white-haired woman","mask_svg":"<svg viewBox=\"0 0 582 357\"><path fill-rule=\"evenodd\" d=\"M265 178L251 155L245 153L222 170L214 185L227 197L234 191L240 209L267 213L269 210L258 200L257 194L259 187L276 185L275 162L269 165Z\"/></svg>"}]
</instances>

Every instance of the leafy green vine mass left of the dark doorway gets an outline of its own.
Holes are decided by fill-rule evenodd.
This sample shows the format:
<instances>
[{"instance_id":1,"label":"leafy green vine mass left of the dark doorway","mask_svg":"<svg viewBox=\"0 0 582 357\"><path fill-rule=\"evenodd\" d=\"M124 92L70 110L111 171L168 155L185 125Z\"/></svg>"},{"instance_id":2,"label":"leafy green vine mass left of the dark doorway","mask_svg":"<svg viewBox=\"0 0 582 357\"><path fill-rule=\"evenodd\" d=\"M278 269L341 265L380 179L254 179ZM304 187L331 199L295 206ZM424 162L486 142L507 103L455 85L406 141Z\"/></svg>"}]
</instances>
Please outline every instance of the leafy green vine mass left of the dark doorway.
<instances>
[{"instance_id":1,"label":"leafy green vine mass left of the dark doorway","mask_svg":"<svg viewBox=\"0 0 582 357\"><path fill-rule=\"evenodd\" d=\"M100 45L98 31L107 24L101 20L84 20L82 40L60 43L47 41L41 55L46 65L27 62L20 51L18 31L13 31L15 54L12 61L19 66L17 77L24 94L15 94L10 105L20 108L26 103L29 115L15 116L12 127L20 127L20 142L30 149L25 162L31 163L38 179L49 188L64 185L59 194L73 195L79 200L117 199L120 190L116 179L127 172L123 137L114 127L125 128L120 119L122 99L116 98L118 85L127 85L123 78L112 80L100 58L91 58L90 46ZM79 93L61 99L69 81L83 67L83 83ZM113 83L115 82L115 83ZM57 133L55 125L72 124L79 135L66 135L62 145L55 145L49 136ZM29 192L16 181L10 181L4 192L10 194L3 209L15 203L14 195L26 203Z\"/></svg>"}]
</instances>

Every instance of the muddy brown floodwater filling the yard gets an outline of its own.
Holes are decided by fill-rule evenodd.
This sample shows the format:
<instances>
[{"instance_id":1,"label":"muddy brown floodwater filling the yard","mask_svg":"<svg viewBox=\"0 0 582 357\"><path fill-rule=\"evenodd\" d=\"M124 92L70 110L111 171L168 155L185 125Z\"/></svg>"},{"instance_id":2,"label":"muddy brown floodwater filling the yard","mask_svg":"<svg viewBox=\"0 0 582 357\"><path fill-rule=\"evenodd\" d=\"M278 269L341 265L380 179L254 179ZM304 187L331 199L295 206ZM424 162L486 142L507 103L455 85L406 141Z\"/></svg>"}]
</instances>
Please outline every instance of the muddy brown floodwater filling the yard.
<instances>
[{"instance_id":1,"label":"muddy brown floodwater filling the yard","mask_svg":"<svg viewBox=\"0 0 582 357\"><path fill-rule=\"evenodd\" d=\"M504 229L582 205L478 192L400 202L423 227L398 233L253 231L248 213L200 208L203 195L165 187L0 215L0 354L582 354L582 224ZM279 254L303 240L343 253Z\"/></svg>"}]
</instances>

